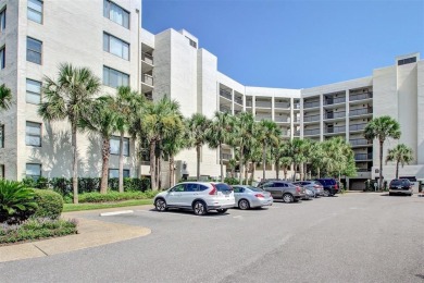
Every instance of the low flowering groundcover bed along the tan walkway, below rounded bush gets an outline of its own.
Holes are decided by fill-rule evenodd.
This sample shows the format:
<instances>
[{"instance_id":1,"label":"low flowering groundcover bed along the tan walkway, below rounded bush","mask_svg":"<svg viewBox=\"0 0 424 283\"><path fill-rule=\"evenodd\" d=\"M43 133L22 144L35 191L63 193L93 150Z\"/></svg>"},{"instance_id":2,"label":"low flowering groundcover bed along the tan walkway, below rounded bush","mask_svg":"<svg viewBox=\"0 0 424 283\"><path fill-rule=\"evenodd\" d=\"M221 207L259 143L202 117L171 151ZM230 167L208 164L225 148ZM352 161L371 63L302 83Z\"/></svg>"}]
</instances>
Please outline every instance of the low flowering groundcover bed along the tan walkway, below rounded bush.
<instances>
[{"instance_id":1,"label":"low flowering groundcover bed along the tan walkway, below rounded bush","mask_svg":"<svg viewBox=\"0 0 424 283\"><path fill-rule=\"evenodd\" d=\"M76 220L29 219L20 225L0 225L0 245L77 233Z\"/></svg>"}]
</instances>

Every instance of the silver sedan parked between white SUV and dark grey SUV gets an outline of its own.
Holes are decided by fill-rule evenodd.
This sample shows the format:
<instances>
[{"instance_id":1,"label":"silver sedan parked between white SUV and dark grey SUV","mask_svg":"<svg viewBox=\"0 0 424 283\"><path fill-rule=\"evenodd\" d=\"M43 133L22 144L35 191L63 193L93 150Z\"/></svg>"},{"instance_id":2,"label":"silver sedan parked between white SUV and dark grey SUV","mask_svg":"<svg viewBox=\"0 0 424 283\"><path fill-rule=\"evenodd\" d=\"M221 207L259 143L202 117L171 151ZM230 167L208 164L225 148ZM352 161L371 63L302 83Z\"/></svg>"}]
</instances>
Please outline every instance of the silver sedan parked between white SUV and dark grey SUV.
<instances>
[{"instance_id":1,"label":"silver sedan parked between white SUV and dark grey SUV","mask_svg":"<svg viewBox=\"0 0 424 283\"><path fill-rule=\"evenodd\" d=\"M249 209L254 207L264 207L273 205L271 193L258 187L236 185L233 186L236 207L239 209Z\"/></svg>"}]
</instances>

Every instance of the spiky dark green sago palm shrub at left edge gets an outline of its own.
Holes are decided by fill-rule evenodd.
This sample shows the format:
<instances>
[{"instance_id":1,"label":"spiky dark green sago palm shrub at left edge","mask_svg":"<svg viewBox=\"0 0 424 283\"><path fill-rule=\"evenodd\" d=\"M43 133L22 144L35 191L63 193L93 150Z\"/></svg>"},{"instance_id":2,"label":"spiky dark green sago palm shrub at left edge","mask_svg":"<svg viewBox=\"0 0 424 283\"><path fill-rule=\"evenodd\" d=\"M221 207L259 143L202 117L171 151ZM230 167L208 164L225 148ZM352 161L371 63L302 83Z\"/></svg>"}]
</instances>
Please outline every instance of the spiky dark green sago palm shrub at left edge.
<instances>
[{"instance_id":1,"label":"spiky dark green sago palm shrub at left edge","mask_svg":"<svg viewBox=\"0 0 424 283\"><path fill-rule=\"evenodd\" d=\"M20 222L37 208L34 190L14 181L0 180L0 222Z\"/></svg>"}]
</instances>

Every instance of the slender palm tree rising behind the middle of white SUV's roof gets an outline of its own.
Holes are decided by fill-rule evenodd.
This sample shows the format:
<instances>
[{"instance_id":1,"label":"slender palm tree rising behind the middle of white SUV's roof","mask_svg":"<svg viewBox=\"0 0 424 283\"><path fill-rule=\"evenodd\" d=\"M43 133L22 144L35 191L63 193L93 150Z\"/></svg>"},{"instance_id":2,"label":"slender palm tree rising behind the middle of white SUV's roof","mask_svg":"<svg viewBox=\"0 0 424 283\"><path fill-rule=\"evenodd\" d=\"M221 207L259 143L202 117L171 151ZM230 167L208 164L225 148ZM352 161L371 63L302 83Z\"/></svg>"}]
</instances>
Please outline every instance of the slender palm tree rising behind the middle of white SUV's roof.
<instances>
[{"instance_id":1,"label":"slender palm tree rising behind the middle of white SUV's roof","mask_svg":"<svg viewBox=\"0 0 424 283\"><path fill-rule=\"evenodd\" d=\"M203 145L208 143L208 130L211 121L200 113L195 113L187 120L187 134L190 146L196 147L197 155L197 181L200 180L200 151Z\"/></svg>"}]
</instances>

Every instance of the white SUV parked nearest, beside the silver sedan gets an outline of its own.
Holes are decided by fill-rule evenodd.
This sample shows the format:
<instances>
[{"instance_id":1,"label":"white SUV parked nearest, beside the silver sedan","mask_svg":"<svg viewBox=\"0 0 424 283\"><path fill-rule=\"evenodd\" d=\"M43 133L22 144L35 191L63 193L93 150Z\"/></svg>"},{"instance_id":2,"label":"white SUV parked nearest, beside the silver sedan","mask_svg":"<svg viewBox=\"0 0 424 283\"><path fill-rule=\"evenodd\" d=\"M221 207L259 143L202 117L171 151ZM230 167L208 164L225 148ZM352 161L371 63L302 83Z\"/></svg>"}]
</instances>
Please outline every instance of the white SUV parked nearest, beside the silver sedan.
<instances>
[{"instance_id":1,"label":"white SUV parked nearest, beside the silver sedan","mask_svg":"<svg viewBox=\"0 0 424 283\"><path fill-rule=\"evenodd\" d=\"M233 188L224 183L179 183L154 197L154 207L158 211L185 208L194 210L197 216L204 216L210 210L224 213L234 206Z\"/></svg>"}]
</instances>

